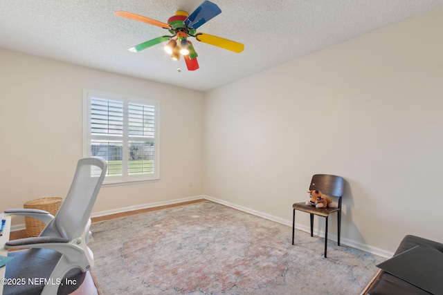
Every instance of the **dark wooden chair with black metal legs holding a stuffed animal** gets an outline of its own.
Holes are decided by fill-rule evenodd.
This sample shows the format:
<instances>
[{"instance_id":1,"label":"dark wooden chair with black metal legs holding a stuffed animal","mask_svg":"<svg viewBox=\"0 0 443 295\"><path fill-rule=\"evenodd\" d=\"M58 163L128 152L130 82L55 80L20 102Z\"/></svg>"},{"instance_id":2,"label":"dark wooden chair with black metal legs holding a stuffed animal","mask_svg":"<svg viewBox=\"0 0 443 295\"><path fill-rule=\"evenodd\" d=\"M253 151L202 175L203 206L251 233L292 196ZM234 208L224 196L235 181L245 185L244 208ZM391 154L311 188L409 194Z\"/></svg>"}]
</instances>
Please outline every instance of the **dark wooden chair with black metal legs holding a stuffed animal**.
<instances>
[{"instance_id":1,"label":"dark wooden chair with black metal legs holding a stuffed animal","mask_svg":"<svg viewBox=\"0 0 443 295\"><path fill-rule=\"evenodd\" d=\"M325 258L327 249L327 218L330 213L337 212L337 225L338 225L338 239L337 243L340 246L340 227L341 227L341 197L343 196L344 180L340 176L329 174L316 174L312 176L311 185L309 191L318 189L327 196L338 198L338 208L316 208L314 206L308 206L305 202L295 203L292 205L292 245L295 232L296 222L296 210L307 212L311 216L311 236L314 236L314 215L323 216L325 218Z\"/></svg>"}]
</instances>

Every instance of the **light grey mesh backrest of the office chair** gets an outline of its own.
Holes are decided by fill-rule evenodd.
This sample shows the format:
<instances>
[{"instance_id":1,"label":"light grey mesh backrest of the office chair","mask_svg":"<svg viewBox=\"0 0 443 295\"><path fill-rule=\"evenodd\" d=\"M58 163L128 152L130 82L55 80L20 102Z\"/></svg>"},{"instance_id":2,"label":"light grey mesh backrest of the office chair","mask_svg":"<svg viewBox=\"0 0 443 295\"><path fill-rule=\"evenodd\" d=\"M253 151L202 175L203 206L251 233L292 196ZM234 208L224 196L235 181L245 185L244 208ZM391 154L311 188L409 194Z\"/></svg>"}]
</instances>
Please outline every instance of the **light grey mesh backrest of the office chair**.
<instances>
[{"instance_id":1,"label":"light grey mesh backrest of the office chair","mask_svg":"<svg viewBox=\"0 0 443 295\"><path fill-rule=\"evenodd\" d=\"M83 233L106 171L104 160L86 158L78 161L71 188L54 219L62 237L72 240Z\"/></svg>"}]
</instances>

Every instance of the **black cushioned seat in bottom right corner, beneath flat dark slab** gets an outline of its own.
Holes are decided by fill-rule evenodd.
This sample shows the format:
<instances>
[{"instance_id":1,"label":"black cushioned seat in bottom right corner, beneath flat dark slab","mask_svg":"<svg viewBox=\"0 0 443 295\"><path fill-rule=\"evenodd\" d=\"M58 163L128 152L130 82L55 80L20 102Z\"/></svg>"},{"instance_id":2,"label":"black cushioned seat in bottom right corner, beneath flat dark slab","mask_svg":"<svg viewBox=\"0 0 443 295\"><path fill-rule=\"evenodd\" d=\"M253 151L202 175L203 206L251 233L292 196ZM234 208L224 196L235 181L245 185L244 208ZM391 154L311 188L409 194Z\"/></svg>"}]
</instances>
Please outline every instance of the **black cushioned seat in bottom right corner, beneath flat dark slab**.
<instances>
[{"instance_id":1,"label":"black cushioned seat in bottom right corner, beneath flat dark slab","mask_svg":"<svg viewBox=\"0 0 443 295\"><path fill-rule=\"evenodd\" d=\"M420 238L418 236L405 236L401 241L397 251L395 251L394 256L402 254L408 250L414 251L419 247L427 247L431 248L433 251L440 251L443 253L443 244L440 242L435 242L433 240L428 240L426 238ZM438 253L437 253L438 254ZM401 256L399 256L401 257ZM415 268L418 265L414 266ZM419 269L415 269L419 270ZM440 273L441 276L441 273ZM442 277L443 278L443 277ZM415 283L415 282L414 282ZM425 286L426 287L426 286ZM368 295L405 295L405 294L413 294L413 295L429 295L430 293L424 291L419 287L416 287L412 283L407 283L405 280L398 278L392 274L389 274L386 271L382 271L381 275L374 283L372 288L368 291ZM438 293L435 293L438 294ZM443 294L443 293L442 293Z\"/></svg>"}]
</instances>

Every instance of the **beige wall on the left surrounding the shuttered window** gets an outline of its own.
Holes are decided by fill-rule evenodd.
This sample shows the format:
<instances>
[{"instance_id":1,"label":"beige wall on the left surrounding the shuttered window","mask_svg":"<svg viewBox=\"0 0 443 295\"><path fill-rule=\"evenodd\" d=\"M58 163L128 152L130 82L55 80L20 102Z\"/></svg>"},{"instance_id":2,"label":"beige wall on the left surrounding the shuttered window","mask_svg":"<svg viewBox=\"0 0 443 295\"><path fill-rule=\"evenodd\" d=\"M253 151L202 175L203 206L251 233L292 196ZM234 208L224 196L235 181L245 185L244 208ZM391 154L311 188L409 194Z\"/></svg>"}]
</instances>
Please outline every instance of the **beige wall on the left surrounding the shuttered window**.
<instances>
[{"instance_id":1,"label":"beige wall on the left surrounding the shuttered window","mask_svg":"<svg viewBox=\"0 0 443 295\"><path fill-rule=\"evenodd\" d=\"M83 88L161 102L161 180L102 187L94 212L203 192L203 93L1 49L0 65L0 211L66 196L82 158Z\"/></svg>"}]
</instances>

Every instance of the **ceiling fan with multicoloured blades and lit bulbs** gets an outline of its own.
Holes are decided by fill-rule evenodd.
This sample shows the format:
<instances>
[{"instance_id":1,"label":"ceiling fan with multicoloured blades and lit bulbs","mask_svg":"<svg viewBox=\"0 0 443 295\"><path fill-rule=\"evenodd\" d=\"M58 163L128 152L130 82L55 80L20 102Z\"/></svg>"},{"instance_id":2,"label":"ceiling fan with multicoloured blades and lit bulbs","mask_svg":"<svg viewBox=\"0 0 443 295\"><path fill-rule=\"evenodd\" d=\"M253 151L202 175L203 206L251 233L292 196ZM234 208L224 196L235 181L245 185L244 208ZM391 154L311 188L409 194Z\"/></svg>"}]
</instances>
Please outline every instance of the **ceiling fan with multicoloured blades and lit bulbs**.
<instances>
[{"instance_id":1,"label":"ceiling fan with multicoloured blades and lit bulbs","mask_svg":"<svg viewBox=\"0 0 443 295\"><path fill-rule=\"evenodd\" d=\"M195 48L192 46L191 41L188 40L188 37L195 37L197 41L231 50L235 53L241 53L243 51L244 45L241 43L205 34L203 32L195 32L197 28L204 25L204 23L208 22L210 19L213 19L220 13L220 8L215 3L210 1L204 1L201 3L201 5L190 15L188 12L183 10L177 11L174 16L168 19L168 23L163 23L162 21L150 19L149 17L136 15L132 12L114 12L114 14L118 15L119 17L143 21L144 23L149 23L150 25L165 28L172 34L145 41L132 48L129 48L129 51L138 52L146 48L150 48L156 44L169 41L164 47L165 51L171 55L172 59L176 60L180 59L180 56L183 55L188 70L197 70L199 68L199 63L197 62L198 55L195 52Z\"/></svg>"}]
</instances>

